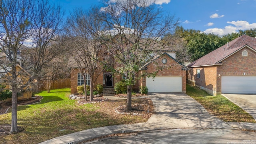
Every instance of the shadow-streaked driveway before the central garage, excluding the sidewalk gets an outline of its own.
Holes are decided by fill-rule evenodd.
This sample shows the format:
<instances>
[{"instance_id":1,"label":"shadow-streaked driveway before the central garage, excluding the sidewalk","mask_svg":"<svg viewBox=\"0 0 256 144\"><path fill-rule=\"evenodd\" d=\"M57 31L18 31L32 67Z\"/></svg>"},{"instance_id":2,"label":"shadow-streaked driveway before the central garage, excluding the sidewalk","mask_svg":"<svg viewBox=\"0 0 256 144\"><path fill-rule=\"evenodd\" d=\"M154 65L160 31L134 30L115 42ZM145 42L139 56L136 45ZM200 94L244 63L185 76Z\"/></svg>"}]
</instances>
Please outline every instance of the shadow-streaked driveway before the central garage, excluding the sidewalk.
<instances>
[{"instance_id":1,"label":"shadow-streaked driveway before the central garage, excluding the sidewalk","mask_svg":"<svg viewBox=\"0 0 256 144\"><path fill-rule=\"evenodd\" d=\"M141 128L230 128L184 93L153 93L149 97L154 104L154 114Z\"/></svg>"}]
</instances>

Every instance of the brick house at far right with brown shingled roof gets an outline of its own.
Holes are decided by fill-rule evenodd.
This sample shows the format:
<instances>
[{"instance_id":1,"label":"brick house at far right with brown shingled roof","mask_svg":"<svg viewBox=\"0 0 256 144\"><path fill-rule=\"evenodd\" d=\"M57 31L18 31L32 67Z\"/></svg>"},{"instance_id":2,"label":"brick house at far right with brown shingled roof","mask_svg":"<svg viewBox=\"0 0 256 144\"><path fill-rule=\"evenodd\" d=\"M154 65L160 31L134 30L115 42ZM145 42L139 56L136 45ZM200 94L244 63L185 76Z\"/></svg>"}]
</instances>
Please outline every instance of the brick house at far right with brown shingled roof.
<instances>
[{"instance_id":1,"label":"brick house at far right with brown shingled roof","mask_svg":"<svg viewBox=\"0 0 256 144\"><path fill-rule=\"evenodd\" d=\"M242 35L187 67L188 80L214 96L256 93L256 38Z\"/></svg>"}]
</instances>

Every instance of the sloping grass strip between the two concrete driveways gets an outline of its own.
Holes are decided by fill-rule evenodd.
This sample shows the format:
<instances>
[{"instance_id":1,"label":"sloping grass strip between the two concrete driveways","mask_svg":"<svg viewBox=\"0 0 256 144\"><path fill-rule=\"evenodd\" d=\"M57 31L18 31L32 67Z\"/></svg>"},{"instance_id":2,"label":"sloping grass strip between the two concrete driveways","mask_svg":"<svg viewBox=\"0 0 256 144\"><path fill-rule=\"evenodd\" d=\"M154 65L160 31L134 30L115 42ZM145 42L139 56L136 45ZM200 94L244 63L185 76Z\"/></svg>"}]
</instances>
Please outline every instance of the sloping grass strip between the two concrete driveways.
<instances>
[{"instance_id":1,"label":"sloping grass strip between the two concrete driveways","mask_svg":"<svg viewBox=\"0 0 256 144\"><path fill-rule=\"evenodd\" d=\"M186 86L186 94L198 101L212 115L225 122L255 122L254 118L224 96L211 96L196 86Z\"/></svg>"}]
</instances>

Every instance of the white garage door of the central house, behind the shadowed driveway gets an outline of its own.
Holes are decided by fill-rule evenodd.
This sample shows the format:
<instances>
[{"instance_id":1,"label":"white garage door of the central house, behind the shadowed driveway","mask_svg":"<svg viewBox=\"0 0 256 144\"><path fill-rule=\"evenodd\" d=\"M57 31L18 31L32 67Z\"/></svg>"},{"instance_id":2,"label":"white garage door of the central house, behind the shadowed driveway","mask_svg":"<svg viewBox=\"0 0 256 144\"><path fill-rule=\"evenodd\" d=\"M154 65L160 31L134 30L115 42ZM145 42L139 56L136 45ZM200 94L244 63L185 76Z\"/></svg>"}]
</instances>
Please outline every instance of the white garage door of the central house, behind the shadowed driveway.
<instances>
[{"instance_id":1,"label":"white garage door of the central house, behind the shadowed driveway","mask_svg":"<svg viewBox=\"0 0 256 144\"><path fill-rule=\"evenodd\" d=\"M182 76L146 77L148 92L182 92Z\"/></svg>"}]
</instances>

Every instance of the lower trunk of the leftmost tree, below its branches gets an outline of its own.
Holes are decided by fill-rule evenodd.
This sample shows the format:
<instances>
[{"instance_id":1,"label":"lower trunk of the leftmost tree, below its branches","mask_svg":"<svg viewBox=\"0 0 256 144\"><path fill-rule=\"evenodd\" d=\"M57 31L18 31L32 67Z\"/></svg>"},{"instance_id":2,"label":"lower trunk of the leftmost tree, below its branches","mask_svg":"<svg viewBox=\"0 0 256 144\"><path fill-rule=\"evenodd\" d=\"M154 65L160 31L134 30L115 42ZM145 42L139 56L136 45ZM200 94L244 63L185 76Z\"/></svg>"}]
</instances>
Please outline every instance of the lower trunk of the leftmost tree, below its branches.
<instances>
[{"instance_id":1,"label":"lower trunk of the leftmost tree, below its branches","mask_svg":"<svg viewBox=\"0 0 256 144\"><path fill-rule=\"evenodd\" d=\"M15 86L12 87L12 125L10 133L18 132L17 124L17 90Z\"/></svg>"}]
</instances>

